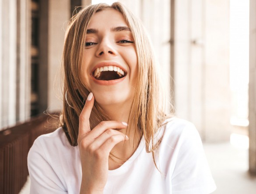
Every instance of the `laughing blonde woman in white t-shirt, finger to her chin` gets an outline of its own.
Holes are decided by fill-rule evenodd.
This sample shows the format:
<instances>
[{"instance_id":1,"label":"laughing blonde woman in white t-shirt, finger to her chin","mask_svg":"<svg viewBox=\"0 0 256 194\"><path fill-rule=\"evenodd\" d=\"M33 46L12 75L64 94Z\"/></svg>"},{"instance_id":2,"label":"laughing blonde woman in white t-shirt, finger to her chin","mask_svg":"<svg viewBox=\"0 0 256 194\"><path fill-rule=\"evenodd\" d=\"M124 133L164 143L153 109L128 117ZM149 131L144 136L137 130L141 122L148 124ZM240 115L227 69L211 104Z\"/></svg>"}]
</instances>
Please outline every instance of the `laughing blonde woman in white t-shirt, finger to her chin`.
<instances>
[{"instance_id":1,"label":"laughing blonde woman in white t-shirt, finger to her chin","mask_svg":"<svg viewBox=\"0 0 256 194\"><path fill-rule=\"evenodd\" d=\"M168 118L151 45L121 3L91 5L67 29L60 128L28 154L32 194L209 194L193 124Z\"/></svg>"}]
</instances>

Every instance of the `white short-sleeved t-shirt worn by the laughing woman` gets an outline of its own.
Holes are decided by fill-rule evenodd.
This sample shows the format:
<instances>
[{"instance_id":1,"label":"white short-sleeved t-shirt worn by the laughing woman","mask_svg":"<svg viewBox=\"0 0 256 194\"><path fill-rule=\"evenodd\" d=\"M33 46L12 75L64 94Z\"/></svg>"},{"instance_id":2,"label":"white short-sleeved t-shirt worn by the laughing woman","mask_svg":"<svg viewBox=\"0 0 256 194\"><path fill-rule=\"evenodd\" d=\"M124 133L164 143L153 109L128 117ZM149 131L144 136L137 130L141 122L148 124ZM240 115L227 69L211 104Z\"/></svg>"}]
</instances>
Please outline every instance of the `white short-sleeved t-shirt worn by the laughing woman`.
<instances>
[{"instance_id":1,"label":"white short-sleeved t-shirt worn by the laughing woman","mask_svg":"<svg viewBox=\"0 0 256 194\"><path fill-rule=\"evenodd\" d=\"M168 122L169 121L169 122ZM144 137L121 167L109 170L104 194L210 194L216 189L200 136L192 123L168 119L155 157L145 150ZM39 136L28 153L31 194L79 194L81 160L62 128Z\"/></svg>"}]
</instances>

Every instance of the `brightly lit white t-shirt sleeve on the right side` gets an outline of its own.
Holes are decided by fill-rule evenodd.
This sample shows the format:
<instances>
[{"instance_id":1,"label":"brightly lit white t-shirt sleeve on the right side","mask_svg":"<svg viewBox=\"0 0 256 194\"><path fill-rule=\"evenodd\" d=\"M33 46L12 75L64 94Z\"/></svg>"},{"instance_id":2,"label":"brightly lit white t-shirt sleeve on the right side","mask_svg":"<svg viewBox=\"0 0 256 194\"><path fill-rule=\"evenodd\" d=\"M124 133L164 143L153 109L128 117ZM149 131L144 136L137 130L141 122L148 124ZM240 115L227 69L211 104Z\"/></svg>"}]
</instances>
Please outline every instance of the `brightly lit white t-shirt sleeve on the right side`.
<instances>
[{"instance_id":1,"label":"brightly lit white t-shirt sleeve on the right side","mask_svg":"<svg viewBox=\"0 0 256 194\"><path fill-rule=\"evenodd\" d=\"M216 189L195 126L187 124L182 130L173 154L175 167L169 172L172 194L210 194Z\"/></svg>"}]
</instances>

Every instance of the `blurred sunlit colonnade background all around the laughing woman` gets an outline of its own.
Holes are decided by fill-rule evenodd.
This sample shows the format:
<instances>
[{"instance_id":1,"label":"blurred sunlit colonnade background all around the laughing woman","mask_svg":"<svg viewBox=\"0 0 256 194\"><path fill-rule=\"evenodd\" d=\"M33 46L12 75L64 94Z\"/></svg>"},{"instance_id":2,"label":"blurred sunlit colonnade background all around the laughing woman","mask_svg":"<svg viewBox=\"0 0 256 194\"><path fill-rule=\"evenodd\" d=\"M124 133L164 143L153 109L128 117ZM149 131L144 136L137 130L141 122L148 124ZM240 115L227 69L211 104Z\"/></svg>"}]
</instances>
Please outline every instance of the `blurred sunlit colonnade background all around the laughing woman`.
<instances>
[{"instance_id":1,"label":"blurred sunlit colonnade background all around the laughing woman","mask_svg":"<svg viewBox=\"0 0 256 194\"><path fill-rule=\"evenodd\" d=\"M101 2L114 1L0 0L0 193L29 193L27 152L21 163L12 154L29 150L43 112L61 111L67 23L79 6ZM255 194L256 0L119 2L148 31L175 116L200 133L214 194ZM28 145L13 143L28 130Z\"/></svg>"}]
</instances>

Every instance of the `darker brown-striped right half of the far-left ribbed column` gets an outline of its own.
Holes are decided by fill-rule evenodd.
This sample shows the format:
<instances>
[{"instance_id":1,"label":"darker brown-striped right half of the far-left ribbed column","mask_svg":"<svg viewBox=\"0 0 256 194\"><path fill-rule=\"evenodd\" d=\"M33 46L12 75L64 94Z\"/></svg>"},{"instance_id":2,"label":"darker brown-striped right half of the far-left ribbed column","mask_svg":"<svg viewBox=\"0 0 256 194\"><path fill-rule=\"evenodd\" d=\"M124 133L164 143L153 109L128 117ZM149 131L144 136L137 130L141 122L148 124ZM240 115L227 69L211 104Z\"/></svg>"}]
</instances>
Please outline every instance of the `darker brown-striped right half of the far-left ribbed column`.
<instances>
[{"instance_id":1,"label":"darker brown-striped right half of the far-left ribbed column","mask_svg":"<svg viewBox=\"0 0 256 194\"><path fill-rule=\"evenodd\" d=\"M30 117L31 8L30 0L17 0L16 121Z\"/></svg>"}]
</instances>

